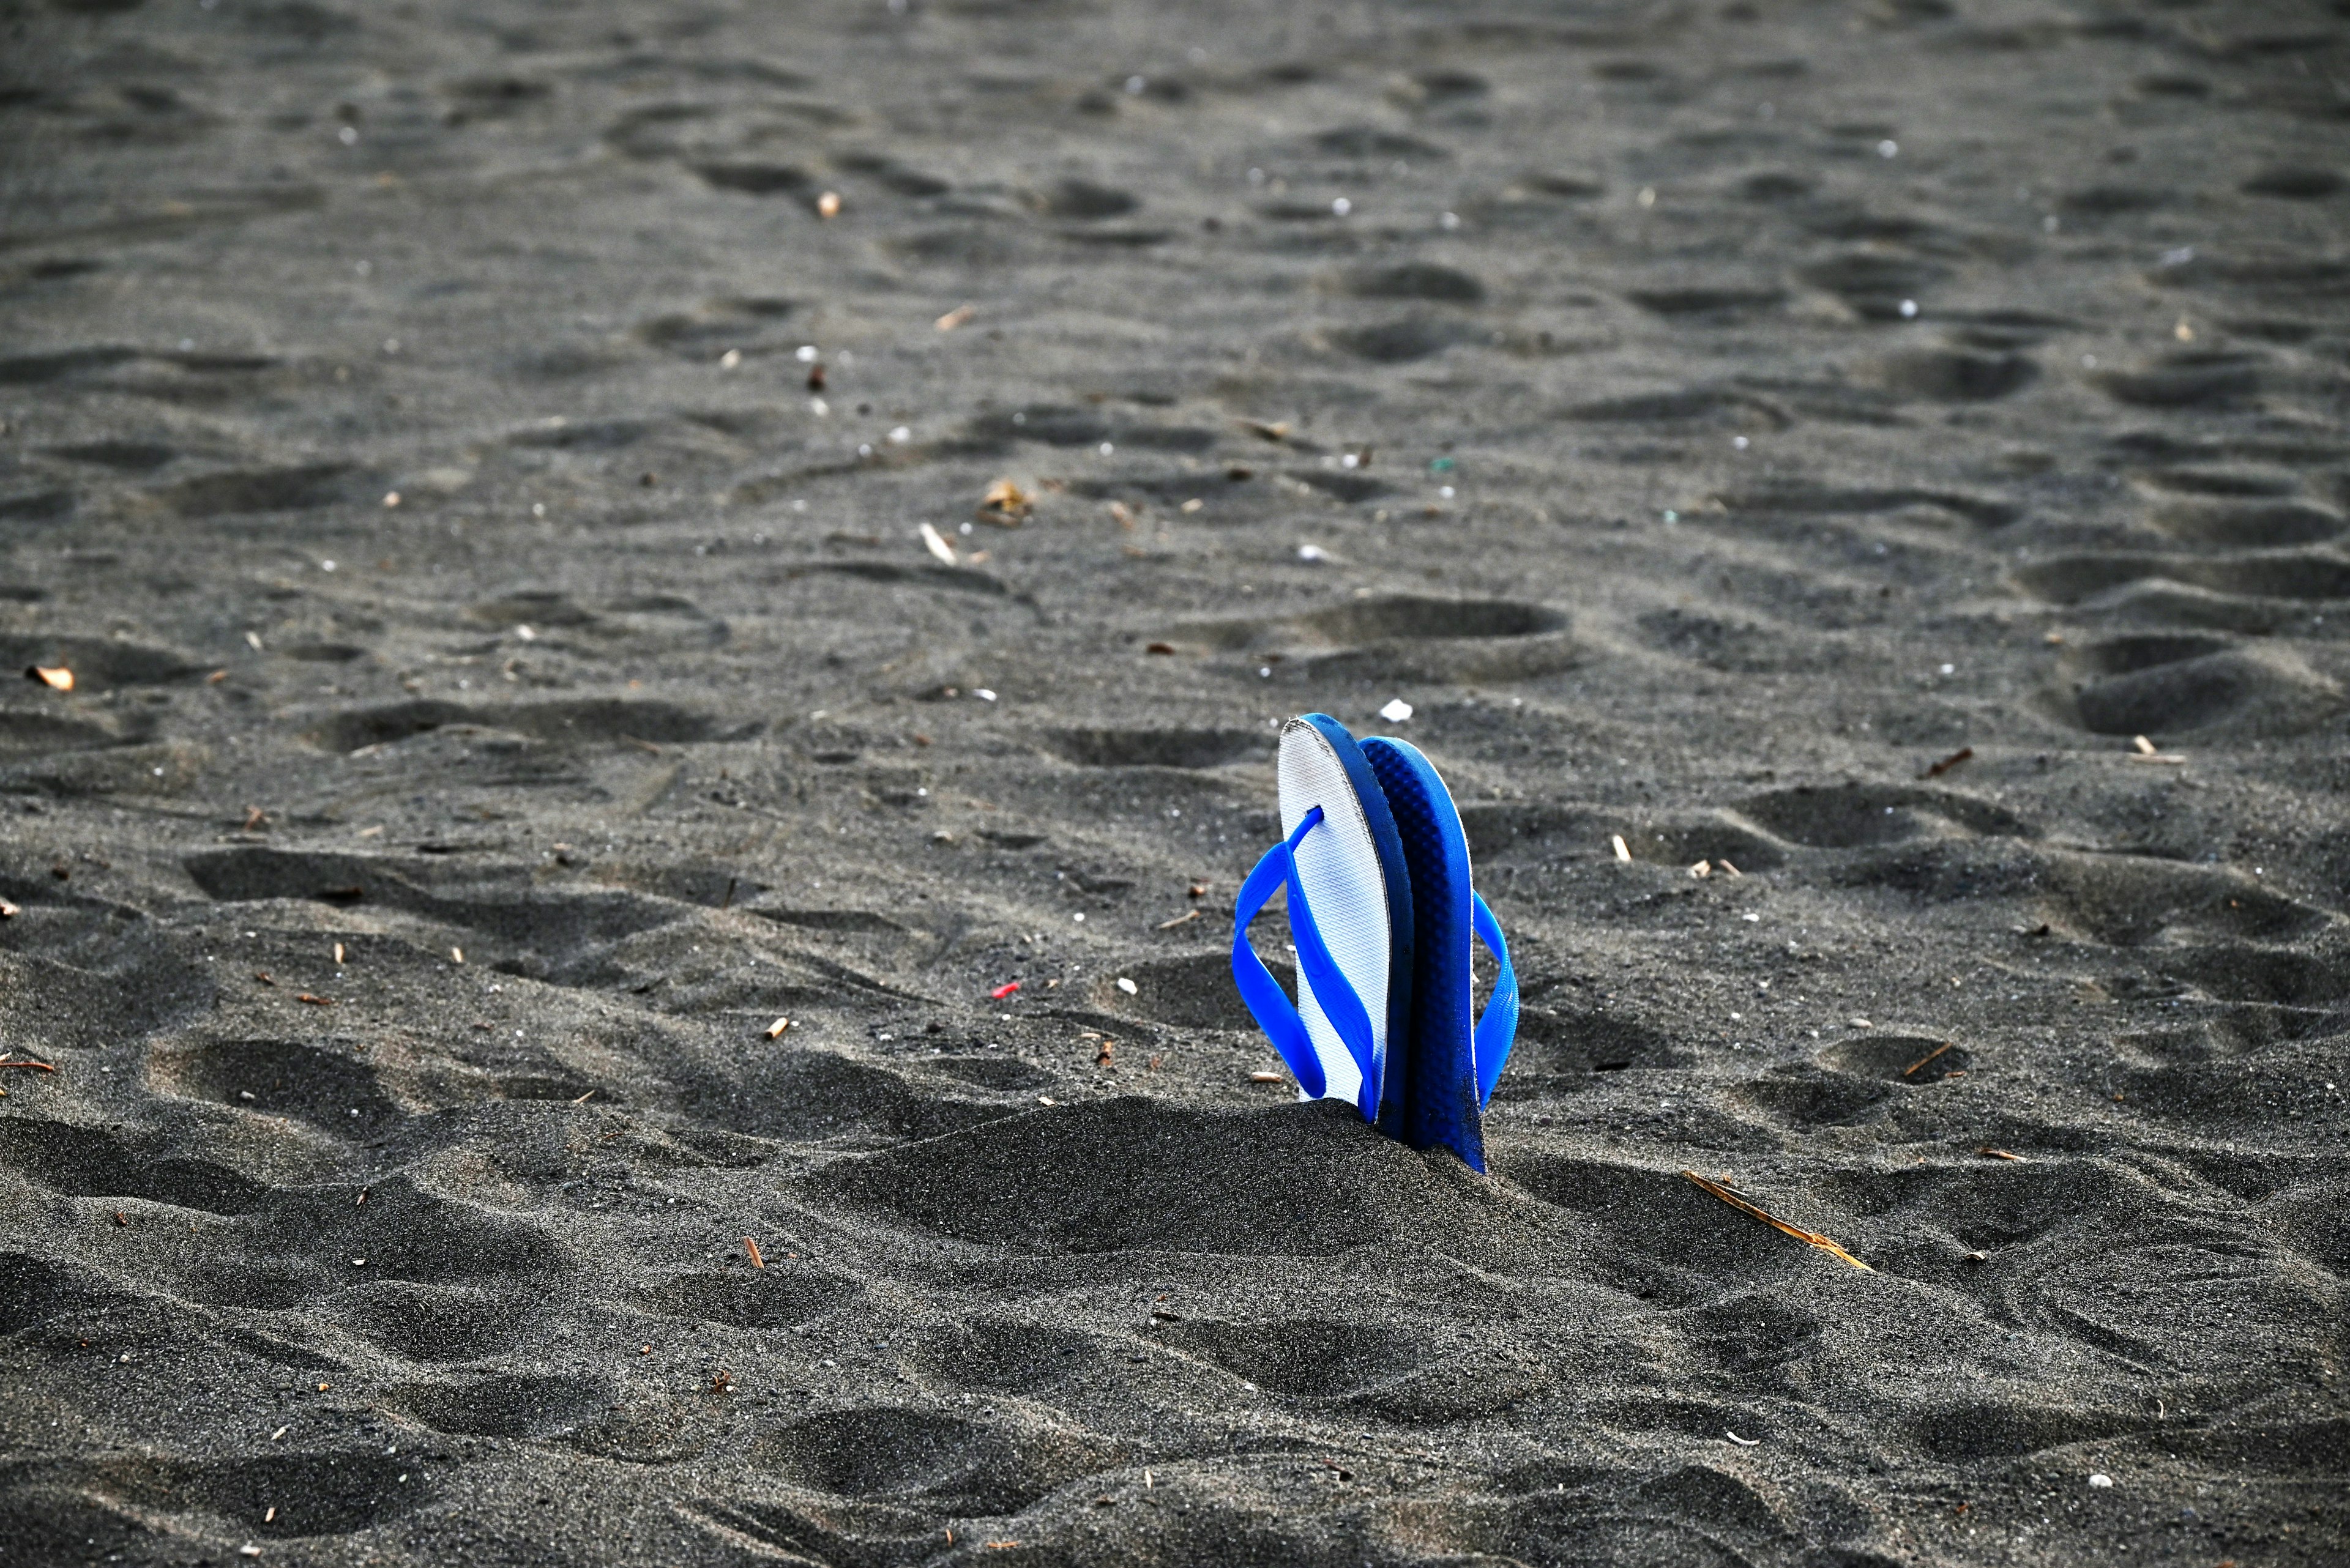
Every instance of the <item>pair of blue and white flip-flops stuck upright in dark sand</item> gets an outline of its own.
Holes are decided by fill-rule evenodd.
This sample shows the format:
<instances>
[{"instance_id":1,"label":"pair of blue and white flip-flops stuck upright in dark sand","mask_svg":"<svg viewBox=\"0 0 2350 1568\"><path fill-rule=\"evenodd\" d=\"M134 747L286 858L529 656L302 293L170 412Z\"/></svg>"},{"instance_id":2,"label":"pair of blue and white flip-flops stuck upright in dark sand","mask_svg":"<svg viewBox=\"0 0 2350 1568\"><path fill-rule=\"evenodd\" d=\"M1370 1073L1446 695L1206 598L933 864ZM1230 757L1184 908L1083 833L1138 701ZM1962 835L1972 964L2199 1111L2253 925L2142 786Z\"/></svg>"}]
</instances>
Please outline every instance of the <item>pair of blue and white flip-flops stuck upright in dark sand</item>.
<instances>
[{"instance_id":1,"label":"pair of blue and white flip-flops stuck upright in dark sand","mask_svg":"<svg viewBox=\"0 0 2350 1568\"><path fill-rule=\"evenodd\" d=\"M1304 1098L1354 1103L1415 1150L1485 1168L1483 1110L1518 1032L1518 980L1492 910L1469 884L1452 792L1417 748L1356 745L1325 715L1281 731L1281 825L1241 889L1231 973ZM1297 997L1248 945L1248 924L1288 889ZM1499 959L1473 1018L1471 938Z\"/></svg>"}]
</instances>

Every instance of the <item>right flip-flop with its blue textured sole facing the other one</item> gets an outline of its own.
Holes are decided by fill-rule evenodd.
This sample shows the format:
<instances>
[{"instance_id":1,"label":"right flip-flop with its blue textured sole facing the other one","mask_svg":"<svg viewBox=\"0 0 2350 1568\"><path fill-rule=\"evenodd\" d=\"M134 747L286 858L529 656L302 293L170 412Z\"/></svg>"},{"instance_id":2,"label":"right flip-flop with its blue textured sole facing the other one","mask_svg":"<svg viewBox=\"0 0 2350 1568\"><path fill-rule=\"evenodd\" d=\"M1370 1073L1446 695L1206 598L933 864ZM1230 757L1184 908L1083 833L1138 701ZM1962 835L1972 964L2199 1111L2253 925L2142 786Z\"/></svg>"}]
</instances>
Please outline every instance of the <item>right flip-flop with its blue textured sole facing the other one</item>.
<instances>
[{"instance_id":1,"label":"right flip-flop with its blue textured sole facing the other one","mask_svg":"<svg viewBox=\"0 0 2350 1568\"><path fill-rule=\"evenodd\" d=\"M1469 882L1469 835L1436 766L1410 741L1372 736L1363 757L1403 835L1412 875L1412 1032L1403 1140L1485 1168L1485 1105L1518 1037L1518 973L1502 922ZM1499 961L1473 1013L1471 938Z\"/></svg>"}]
</instances>

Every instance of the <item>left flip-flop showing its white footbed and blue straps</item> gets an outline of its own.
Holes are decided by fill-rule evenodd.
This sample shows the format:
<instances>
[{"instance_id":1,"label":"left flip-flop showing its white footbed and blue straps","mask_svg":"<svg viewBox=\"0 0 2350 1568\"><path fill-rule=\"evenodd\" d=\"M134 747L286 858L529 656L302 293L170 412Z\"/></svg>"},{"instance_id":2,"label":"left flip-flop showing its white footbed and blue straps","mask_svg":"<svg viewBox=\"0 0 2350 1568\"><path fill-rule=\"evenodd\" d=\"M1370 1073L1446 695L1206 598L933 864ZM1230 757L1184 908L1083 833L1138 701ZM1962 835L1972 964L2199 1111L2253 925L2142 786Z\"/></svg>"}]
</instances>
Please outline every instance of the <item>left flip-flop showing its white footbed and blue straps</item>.
<instances>
[{"instance_id":1,"label":"left flip-flop showing its white footbed and blue straps","mask_svg":"<svg viewBox=\"0 0 2350 1568\"><path fill-rule=\"evenodd\" d=\"M1403 1135L1412 1030L1412 877L1403 837L1363 748L1309 712L1281 729L1281 832L1241 884L1231 978L1309 1100L1340 1098ZM1297 1004L1248 943L1248 924L1288 889Z\"/></svg>"}]
</instances>

